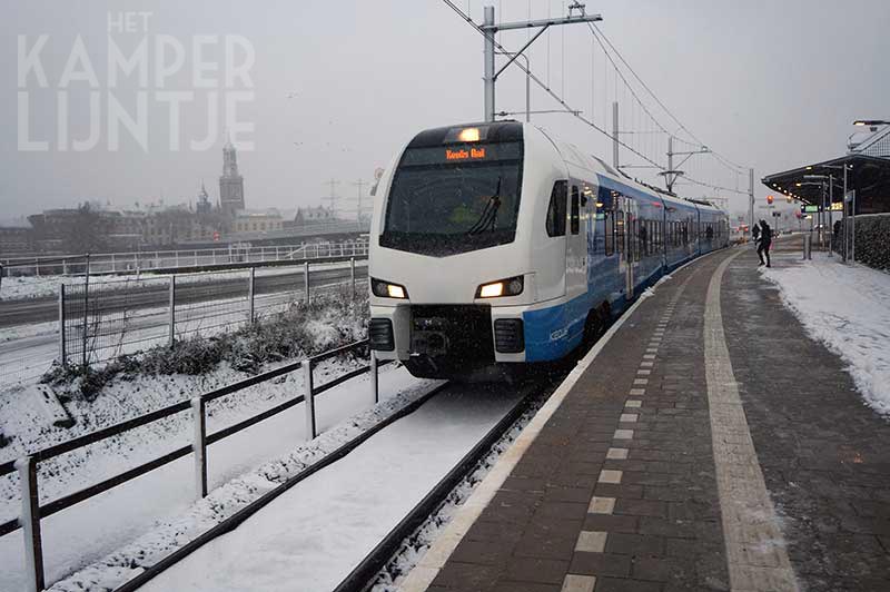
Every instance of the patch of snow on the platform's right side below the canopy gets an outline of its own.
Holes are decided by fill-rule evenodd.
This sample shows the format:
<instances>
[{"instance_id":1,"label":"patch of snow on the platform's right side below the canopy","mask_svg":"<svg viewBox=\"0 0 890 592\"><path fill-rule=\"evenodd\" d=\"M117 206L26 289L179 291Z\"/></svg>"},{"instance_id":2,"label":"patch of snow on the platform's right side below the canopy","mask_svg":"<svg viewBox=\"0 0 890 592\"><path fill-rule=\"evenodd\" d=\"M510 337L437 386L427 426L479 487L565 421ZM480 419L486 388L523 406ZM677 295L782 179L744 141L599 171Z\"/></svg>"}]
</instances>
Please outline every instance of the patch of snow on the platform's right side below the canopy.
<instances>
[{"instance_id":1,"label":"patch of snow on the platform's right side below the canopy","mask_svg":"<svg viewBox=\"0 0 890 592\"><path fill-rule=\"evenodd\" d=\"M849 364L866 403L890 416L890 274L824 254L792 265L780 257L763 275L808 333Z\"/></svg>"}]
</instances>

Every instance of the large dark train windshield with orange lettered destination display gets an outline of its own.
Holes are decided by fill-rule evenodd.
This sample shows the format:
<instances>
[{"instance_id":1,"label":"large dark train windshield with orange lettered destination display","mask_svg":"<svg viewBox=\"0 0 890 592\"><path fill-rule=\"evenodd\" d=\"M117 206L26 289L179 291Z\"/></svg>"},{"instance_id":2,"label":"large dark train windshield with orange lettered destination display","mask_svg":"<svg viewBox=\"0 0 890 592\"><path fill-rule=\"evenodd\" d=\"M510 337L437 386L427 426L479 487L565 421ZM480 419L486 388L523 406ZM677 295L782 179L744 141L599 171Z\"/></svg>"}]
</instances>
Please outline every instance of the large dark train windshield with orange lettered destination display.
<instances>
[{"instance_id":1,"label":"large dark train windshield with orange lettered destination display","mask_svg":"<svg viewBox=\"0 0 890 592\"><path fill-rule=\"evenodd\" d=\"M380 246L443 257L512 243L521 186L522 142L409 148Z\"/></svg>"}]
</instances>

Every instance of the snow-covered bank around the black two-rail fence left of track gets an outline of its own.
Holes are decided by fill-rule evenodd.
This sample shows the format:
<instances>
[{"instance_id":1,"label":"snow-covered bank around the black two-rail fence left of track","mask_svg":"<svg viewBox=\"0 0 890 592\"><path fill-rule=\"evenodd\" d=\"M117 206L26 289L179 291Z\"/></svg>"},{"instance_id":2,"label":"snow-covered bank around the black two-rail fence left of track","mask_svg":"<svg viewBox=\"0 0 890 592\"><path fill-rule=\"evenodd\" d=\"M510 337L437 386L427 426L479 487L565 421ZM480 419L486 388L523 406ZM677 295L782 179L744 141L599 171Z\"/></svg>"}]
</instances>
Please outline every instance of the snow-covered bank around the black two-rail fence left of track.
<instances>
[{"instance_id":1,"label":"snow-covered bank around the black two-rail fence left of track","mask_svg":"<svg viewBox=\"0 0 890 592\"><path fill-rule=\"evenodd\" d=\"M327 368L319 367L316 382L327 382L349 367L348 364L336 363ZM185 377L170 377L166 388L181 393L179 398L206 391L199 387L199 378L194 381L188 383ZM373 405L367 376L347 381L319 396L316 401L318 428L327 433L308 446L300 446L305 441L303 404L212 444L208 448L211 494L197 503L194 503L194 460L186 456L44 519L43 553L48 582L66 578L86 566L83 573L68 578L56 590L115 588L141 571L140 565L151 564L194 539L287 476L296 474L309 462L366 430L382 416L421 396L433 384L413 378L404 368L384 366L380 372L380 394L387 398L370 411L362 413ZM103 407L107 413L118 413L121 418L139 415L146 407L160 406L158 403L161 402L156 399L162 397L157 391L160 389L142 391L137 384L130 392L116 394L119 398L117 412L110 399L105 402ZM296 372L280 381L264 383L211 402L208 404L208 433L301 392L301 373ZM169 401L165 398L162 403ZM19 411L37 413L23 406ZM359 415L356 417L356 414ZM6 412L0 415L8 417ZM191 431L188 413L181 413L127 432L118 438L41 463L41 502L46 503L188 444ZM69 437L73 435L69 434ZM277 461L268 462L276 456L279 457ZM245 474L263 463L266 464L260 470ZM11 477L1 490L2 520L19 512L18 478L14 475ZM0 537L0 590L24 588L22 565L21 532Z\"/></svg>"}]
</instances>

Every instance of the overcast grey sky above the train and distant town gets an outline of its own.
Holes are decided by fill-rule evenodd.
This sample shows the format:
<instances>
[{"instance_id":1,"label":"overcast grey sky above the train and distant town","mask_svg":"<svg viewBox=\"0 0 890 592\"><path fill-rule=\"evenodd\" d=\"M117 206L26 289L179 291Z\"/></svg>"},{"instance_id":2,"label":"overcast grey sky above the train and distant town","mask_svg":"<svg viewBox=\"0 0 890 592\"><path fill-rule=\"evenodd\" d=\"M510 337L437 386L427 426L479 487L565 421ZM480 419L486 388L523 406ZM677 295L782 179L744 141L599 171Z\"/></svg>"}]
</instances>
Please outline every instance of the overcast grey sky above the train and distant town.
<instances>
[{"instance_id":1,"label":"overcast grey sky above the train and distant town","mask_svg":"<svg viewBox=\"0 0 890 592\"><path fill-rule=\"evenodd\" d=\"M482 1L456 3L464 10L469 7L481 20ZM498 20L512 21L530 12L532 18L563 13L566 2L491 3L497 7ZM116 24L122 10L151 14L134 19L136 30L127 32ZM842 154L854 118L890 118L886 0L604 0L589 2L587 10L602 13L603 32L693 134L733 161L754 167L758 179ZM136 112L139 80L136 75L116 83L109 78L109 18L111 38L123 56L142 41L147 45L145 146L125 127L119 146L111 149L111 103ZM48 37L36 53L39 67L32 61L20 85L20 36L27 36L28 52L41 34ZM78 36L96 86L85 75L83 60L72 58ZM164 88L156 80L159 36L185 49L182 67ZM354 197L358 188L353 184L370 180L374 169L386 165L416 131L483 116L482 38L439 0L29 0L7 7L0 39L0 218L83 199L127 206L162 196L168 204L182 203L194 199L201 180L216 198L227 101L236 105L236 124L246 126L235 130L235 139L251 208L317 205L330 178L339 181L338 195ZM194 72L196 39L200 61L216 72ZM226 39L234 48L230 62ZM514 32L500 41L517 49L525 39L525 32ZM614 79L603 79L602 52L594 53L592 66L591 47L583 26L553 30L534 46L532 69L573 108L610 128L606 109L614 98ZM254 55L249 68L248 52ZM66 82L69 60L73 76ZM231 70L227 63L243 67L243 76L234 77L231 85L226 81ZM208 79L208 88L196 85L195 76ZM170 99L159 99L158 91L192 93L180 107L178 150L171 149ZM619 91L617 98L627 106L622 111L624 127L646 131L630 97ZM91 100L99 101L95 116ZM505 73L498 82L498 110L522 110L524 100L524 75ZM60 105L68 110L67 124L60 124ZM556 105L533 89L532 107ZM671 122L661 114L659 118ZM541 115L533 121L611 160L606 138L573 117ZM91 122L99 130L97 146L75 151L72 140L88 138ZM208 148L189 146L208 134ZM627 138L641 150L661 150L654 136ZM48 141L46 149L41 140ZM37 144L23 150L23 141ZM68 149L60 150L60 144ZM253 149L245 149L250 144ZM725 171L718 178L720 171L704 159L695 165L699 159L693 157L688 170L746 188L746 178L733 180ZM634 174L650 175L646 169ZM682 190L692 197L709 194L699 187ZM767 194L759 182L755 190L759 198ZM732 207L744 204L745 198L736 197Z\"/></svg>"}]
</instances>

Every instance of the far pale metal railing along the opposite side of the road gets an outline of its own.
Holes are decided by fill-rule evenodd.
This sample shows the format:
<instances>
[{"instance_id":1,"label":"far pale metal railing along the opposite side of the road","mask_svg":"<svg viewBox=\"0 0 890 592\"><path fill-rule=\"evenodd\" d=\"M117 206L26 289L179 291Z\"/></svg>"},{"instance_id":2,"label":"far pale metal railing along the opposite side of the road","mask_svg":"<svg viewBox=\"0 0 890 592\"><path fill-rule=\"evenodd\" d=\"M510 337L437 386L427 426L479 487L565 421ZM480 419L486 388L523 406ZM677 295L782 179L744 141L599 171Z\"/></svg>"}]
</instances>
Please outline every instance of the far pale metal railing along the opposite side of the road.
<instances>
[{"instance_id":1,"label":"far pale metal railing along the opposite side of the road","mask_svg":"<svg viewBox=\"0 0 890 592\"><path fill-rule=\"evenodd\" d=\"M3 276L53 276L98 274L139 274L179 267L256 264L330 257L367 257L363 240L338 243L301 243L299 245L238 246L224 248L142 250L132 253L97 253L90 255L19 257L0 259Z\"/></svg>"}]
</instances>

